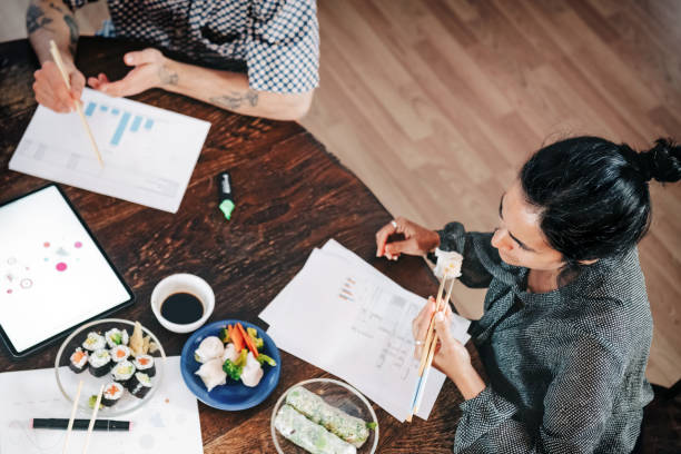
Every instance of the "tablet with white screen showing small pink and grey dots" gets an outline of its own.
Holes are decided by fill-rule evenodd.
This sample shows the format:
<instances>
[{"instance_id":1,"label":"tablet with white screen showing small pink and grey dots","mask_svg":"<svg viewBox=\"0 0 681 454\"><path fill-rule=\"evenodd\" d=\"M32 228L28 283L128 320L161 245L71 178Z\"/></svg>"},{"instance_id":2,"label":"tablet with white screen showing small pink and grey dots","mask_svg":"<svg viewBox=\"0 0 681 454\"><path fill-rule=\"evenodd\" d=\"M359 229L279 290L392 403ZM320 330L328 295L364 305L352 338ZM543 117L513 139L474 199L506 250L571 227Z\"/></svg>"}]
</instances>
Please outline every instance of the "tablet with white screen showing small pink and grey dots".
<instances>
[{"instance_id":1,"label":"tablet with white screen showing small pink and grey dots","mask_svg":"<svg viewBox=\"0 0 681 454\"><path fill-rule=\"evenodd\" d=\"M134 300L57 185L0 204L0 336L12 356Z\"/></svg>"}]
</instances>

